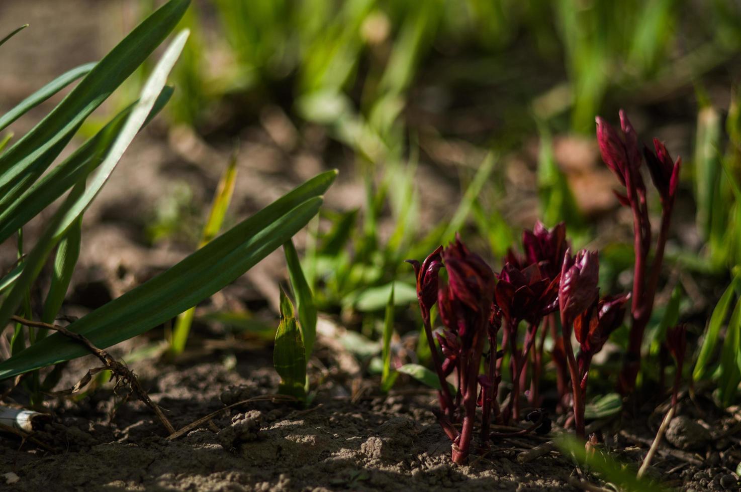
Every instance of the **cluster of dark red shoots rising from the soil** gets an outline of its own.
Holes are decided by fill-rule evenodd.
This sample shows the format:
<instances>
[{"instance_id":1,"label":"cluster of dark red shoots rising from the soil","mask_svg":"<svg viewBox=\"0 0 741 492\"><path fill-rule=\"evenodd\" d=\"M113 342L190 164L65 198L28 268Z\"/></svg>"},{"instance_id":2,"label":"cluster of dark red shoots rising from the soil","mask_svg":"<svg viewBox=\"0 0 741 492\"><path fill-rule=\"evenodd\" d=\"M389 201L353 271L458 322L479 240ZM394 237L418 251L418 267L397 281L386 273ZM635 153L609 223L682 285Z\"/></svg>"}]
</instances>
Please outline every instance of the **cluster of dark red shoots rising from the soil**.
<instances>
[{"instance_id":1,"label":"cluster of dark red shoots rising from the soil","mask_svg":"<svg viewBox=\"0 0 741 492\"><path fill-rule=\"evenodd\" d=\"M634 388L643 331L651 316L677 192L680 160L672 162L664 145L656 139L655 153L648 148L640 152L635 131L622 111L620 121L622 137L597 118L597 138L603 160L625 186L625 194L616 192L619 202L630 207L634 215L636 260L630 294L599 296L597 252L582 250L572 255L563 223L550 230L537 223L533 231L525 231L523 254L509 252L498 274L479 255L469 251L459 237L447 248L437 248L422 264L409 260L416 272L422 321L439 377L439 422L453 441L452 457L456 463L465 462L471 452L477 407L481 408L482 446L492 437L493 419L503 424L519 422L520 394L528 377L528 405L535 409L528 413L528 420L536 422L533 428L549 430L545 411L539 409L548 333L554 341L551 360L556 367L562 406L571 402L570 421L583 437L591 360L622 325L629 299L631 336L619 389L628 394ZM662 203L661 228L650 267L651 223L640 172L643 157ZM439 279L442 268L447 272L447 282ZM433 331L431 311L435 305L442 331ZM521 325L525 326L524 337L519 336ZM497 346L499 330L501 350ZM578 354L574 353L572 333L579 344ZM510 356L511 391L500 403L498 391L505 351ZM451 391L448 377L453 372L457 384Z\"/></svg>"}]
</instances>

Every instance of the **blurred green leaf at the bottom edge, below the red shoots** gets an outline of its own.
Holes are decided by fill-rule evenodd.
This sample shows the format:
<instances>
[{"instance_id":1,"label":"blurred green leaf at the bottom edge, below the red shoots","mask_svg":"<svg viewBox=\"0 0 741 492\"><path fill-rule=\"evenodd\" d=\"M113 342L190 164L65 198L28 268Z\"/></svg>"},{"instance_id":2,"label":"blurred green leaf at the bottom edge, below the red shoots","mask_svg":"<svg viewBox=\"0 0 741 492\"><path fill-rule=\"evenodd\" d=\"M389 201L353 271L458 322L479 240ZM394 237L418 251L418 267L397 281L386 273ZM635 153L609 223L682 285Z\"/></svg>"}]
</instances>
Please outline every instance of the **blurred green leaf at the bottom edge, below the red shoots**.
<instances>
[{"instance_id":1,"label":"blurred green leaf at the bottom edge, below the red shoots","mask_svg":"<svg viewBox=\"0 0 741 492\"><path fill-rule=\"evenodd\" d=\"M660 492L664 489L648 479L639 479L636 472L626 465L618 462L605 451L595 450L594 453L588 453L585 449L585 443L568 434L562 434L562 437L556 440L556 444L565 453L571 454L582 465L587 466L605 479L606 482L612 482L619 485L625 491L634 492Z\"/></svg>"}]
</instances>

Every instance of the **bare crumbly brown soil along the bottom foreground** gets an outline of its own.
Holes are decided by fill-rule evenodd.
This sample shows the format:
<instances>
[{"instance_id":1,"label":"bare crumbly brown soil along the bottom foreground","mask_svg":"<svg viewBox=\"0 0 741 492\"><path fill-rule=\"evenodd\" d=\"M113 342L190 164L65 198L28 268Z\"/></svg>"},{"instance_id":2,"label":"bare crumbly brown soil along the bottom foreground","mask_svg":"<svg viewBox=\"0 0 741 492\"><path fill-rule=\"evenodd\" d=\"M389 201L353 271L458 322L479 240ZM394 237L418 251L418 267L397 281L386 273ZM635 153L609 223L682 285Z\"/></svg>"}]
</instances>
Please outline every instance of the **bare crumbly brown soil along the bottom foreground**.
<instances>
[{"instance_id":1,"label":"bare crumbly brown soil along the bottom foreground","mask_svg":"<svg viewBox=\"0 0 741 492\"><path fill-rule=\"evenodd\" d=\"M339 366L336 357L342 355L323 348L322 340L319 344L316 367ZM131 346L125 343L113 353ZM73 377L93 365L90 357L75 361L60 386L71 385ZM0 439L0 475L8 482L0 482L0 488L555 491L574 489L581 473L557 451L520 464L518 454L548 440L536 436L498 439L491 449L471 456L468 465L454 465L451 443L433 417L435 395L410 382L402 381L385 397L374 393L377 381L314 369L319 391L308 408L299 408L270 400L278 380L265 350L212 351L183 363L147 360L132 368L177 429L226 405L251 401L170 440L150 409L141 402L122 402L110 385L82 399L60 398L51 405L53 419L34 434L37 442ZM649 476L687 491L739 490L731 465L738 462L741 429L736 422L734 431L734 419L707 411L706 404L701 398L694 404L687 400L682 413L692 417L685 417L689 425L699 425L705 423L697 417L703 408L704 418L716 427L708 431L701 426L700 434L696 428L690 429L695 434L679 429L671 441L684 451L665 442ZM657 417L611 419L598 431L599 440L637 467ZM728 429L731 434L724 435L719 448L719 439L711 437L728 434ZM586 472L583 477L599 483Z\"/></svg>"}]
</instances>

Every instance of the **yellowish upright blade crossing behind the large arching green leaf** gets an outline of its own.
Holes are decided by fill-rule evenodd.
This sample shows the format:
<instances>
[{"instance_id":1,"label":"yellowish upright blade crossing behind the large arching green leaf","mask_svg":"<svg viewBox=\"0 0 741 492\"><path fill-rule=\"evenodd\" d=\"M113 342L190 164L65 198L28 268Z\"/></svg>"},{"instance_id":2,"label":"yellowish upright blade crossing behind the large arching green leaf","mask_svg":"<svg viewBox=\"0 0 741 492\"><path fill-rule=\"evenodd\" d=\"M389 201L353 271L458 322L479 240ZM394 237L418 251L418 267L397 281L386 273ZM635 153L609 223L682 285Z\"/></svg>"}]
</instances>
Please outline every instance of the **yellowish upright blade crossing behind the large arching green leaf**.
<instances>
[{"instance_id":1,"label":"yellowish upright blade crossing behind the large arching green leaf","mask_svg":"<svg viewBox=\"0 0 741 492\"><path fill-rule=\"evenodd\" d=\"M234 192L234 183L236 180L236 153L225 169L224 174L219 179L219 186L216 186L216 194L213 196L213 203L208 212L208 219L203 228L199 248L210 243L219 231L222 229L222 223L229 208L229 203ZM196 308L192 307L178 316L173 328L173 339L170 341L170 354L182 354L185 350L185 343L190 334L190 326L193 325L193 316L196 314Z\"/></svg>"}]
</instances>

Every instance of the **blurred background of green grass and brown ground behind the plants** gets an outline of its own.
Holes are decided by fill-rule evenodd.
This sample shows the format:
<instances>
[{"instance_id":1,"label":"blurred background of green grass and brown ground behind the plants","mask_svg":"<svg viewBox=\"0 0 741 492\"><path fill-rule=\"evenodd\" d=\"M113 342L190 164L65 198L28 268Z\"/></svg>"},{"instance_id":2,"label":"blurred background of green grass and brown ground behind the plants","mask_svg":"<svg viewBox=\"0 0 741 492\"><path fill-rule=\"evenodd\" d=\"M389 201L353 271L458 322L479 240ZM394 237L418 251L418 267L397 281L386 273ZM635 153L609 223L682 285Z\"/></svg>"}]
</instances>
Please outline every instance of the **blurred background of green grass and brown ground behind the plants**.
<instances>
[{"instance_id":1,"label":"blurred background of green grass and brown ground behind the plants","mask_svg":"<svg viewBox=\"0 0 741 492\"><path fill-rule=\"evenodd\" d=\"M0 52L0 110L101 58L157 4L3 0L4 31L31 25ZM498 269L523 227L565 220L576 246L600 249L605 289L627 291L632 218L594 138L595 115L616 124L620 108L642 141L665 141L685 163L654 317L680 286L699 333L741 262L737 1L194 0L183 24L173 101L85 215L72 314L196 249L230 155L225 227L340 170L297 245L319 311L362 334L358 351L377 351L393 280L396 305L413 305L403 260L456 231ZM136 97L146 70L81 138ZM13 248L3 254L12 263ZM272 334L285 278L277 252L199 306L196 326ZM402 335L417 316L397 311Z\"/></svg>"}]
</instances>

